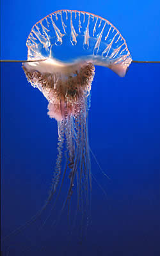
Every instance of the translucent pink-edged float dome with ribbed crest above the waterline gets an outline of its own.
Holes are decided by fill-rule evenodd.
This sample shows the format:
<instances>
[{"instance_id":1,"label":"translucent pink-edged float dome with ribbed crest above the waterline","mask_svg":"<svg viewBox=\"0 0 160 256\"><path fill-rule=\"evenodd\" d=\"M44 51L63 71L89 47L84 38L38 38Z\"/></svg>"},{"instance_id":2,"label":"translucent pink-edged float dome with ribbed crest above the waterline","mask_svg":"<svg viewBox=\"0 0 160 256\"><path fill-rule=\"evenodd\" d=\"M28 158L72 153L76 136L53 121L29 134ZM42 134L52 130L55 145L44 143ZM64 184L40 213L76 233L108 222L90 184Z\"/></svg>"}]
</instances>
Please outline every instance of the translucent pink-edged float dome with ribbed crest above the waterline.
<instances>
[{"instance_id":1,"label":"translucent pink-edged float dome with ribbed crest above the waterline","mask_svg":"<svg viewBox=\"0 0 160 256\"><path fill-rule=\"evenodd\" d=\"M47 15L33 26L26 45L28 60L47 58L60 67L85 61L119 76L125 76L132 61L118 29L88 12L60 10Z\"/></svg>"}]
</instances>

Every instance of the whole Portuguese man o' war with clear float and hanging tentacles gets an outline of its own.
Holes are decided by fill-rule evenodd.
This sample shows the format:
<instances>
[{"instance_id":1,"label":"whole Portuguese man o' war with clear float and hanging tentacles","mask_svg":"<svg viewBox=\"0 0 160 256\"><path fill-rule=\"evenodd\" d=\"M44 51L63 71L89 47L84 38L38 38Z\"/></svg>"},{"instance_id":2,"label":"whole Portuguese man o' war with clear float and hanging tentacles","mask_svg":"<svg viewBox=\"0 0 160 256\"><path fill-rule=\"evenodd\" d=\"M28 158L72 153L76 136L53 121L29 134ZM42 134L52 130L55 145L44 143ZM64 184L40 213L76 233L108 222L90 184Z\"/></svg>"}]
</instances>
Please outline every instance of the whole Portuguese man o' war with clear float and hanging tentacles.
<instances>
[{"instance_id":1,"label":"whole Portuguese man o' war with clear float and hanging tentacles","mask_svg":"<svg viewBox=\"0 0 160 256\"><path fill-rule=\"evenodd\" d=\"M47 202L68 170L70 181L62 209L69 204L76 182L77 209L88 212L92 189L88 95L95 65L108 67L123 77L132 61L130 52L118 29L108 20L71 10L51 13L37 22L26 44L28 60L33 62L23 63L22 68L31 85L48 100L48 115L58 122L58 157ZM61 177L63 157L67 161Z\"/></svg>"}]
</instances>

